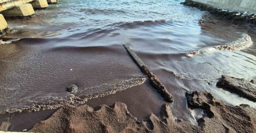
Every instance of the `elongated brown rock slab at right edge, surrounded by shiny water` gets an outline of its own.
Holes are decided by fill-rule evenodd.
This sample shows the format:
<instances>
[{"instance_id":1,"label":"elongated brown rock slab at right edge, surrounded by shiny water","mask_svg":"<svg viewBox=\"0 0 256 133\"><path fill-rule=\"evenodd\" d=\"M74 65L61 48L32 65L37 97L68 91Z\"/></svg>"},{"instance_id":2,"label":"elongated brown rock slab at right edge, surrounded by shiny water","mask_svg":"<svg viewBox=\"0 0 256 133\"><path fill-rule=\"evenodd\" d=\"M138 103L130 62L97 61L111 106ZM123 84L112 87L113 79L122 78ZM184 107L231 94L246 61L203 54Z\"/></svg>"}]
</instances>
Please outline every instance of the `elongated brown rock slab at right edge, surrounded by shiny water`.
<instances>
[{"instance_id":1,"label":"elongated brown rock slab at right edge, surrounded by shiny water","mask_svg":"<svg viewBox=\"0 0 256 133\"><path fill-rule=\"evenodd\" d=\"M222 75L222 79L217 82L217 86L224 87L241 97L256 102L256 85L249 81Z\"/></svg>"}]
</instances>

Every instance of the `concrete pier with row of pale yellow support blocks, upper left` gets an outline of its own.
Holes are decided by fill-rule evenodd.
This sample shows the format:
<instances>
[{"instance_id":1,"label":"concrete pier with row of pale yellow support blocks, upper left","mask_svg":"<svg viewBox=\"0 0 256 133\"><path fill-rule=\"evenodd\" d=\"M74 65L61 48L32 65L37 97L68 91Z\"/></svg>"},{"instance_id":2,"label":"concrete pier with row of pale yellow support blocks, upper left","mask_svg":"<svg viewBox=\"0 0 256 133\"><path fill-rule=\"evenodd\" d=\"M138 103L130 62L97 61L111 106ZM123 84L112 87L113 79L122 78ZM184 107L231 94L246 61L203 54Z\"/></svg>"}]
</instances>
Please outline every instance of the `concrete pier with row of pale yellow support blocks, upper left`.
<instances>
[{"instance_id":1,"label":"concrete pier with row of pale yellow support blocks, upper left","mask_svg":"<svg viewBox=\"0 0 256 133\"><path fill-rule=\"evenodd\" d=\"M34 15L34 9L47 8L56 0L0 0L0 35L8 29L4 17L26 18Z\"/></svg>"}]
</instances>

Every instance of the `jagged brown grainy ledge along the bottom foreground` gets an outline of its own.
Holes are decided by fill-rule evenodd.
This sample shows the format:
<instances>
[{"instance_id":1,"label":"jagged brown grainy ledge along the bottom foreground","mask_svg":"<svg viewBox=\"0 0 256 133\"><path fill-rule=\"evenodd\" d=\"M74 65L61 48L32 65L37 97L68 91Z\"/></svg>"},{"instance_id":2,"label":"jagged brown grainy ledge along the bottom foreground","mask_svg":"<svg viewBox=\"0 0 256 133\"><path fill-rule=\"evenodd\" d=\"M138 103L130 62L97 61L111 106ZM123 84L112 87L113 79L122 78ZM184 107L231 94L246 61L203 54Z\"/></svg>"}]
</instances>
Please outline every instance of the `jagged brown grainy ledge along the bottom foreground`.
<instances>
[{"instance_id":1,"label":"jagged brown grainy ledge along the bottom foreground","mask_svg":"<svg viewBox=\"0 0 256 133\"><path fill-rule=\"evenodd\" d=\"M176 120L168 104L162 106L160 117L151 114L148 120L138 121L124 103L116 102L112 106L101 105L95 109L87 105L75 107L67 104L29 132L256 132L254 108L244 104L228 106L206 91L188 91L186 97L191 107L203 108L207 112L209 118L200 118L198 126Z\"/></svg>"}]
</instances>

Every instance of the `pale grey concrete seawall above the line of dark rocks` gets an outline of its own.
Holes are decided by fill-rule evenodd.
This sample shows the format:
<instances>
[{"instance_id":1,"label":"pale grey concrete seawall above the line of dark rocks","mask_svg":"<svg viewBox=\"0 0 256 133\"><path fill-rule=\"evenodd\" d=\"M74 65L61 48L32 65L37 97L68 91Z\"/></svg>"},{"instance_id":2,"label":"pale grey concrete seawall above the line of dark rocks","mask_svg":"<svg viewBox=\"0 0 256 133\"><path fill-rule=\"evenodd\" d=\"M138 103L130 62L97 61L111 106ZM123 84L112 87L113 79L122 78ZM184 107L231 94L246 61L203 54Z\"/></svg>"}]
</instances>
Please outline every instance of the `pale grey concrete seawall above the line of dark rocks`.
<instances>
[{"instance_id":1,"label":"pale grey concrete seawall above the line of dark rocks","mask_svg":"<svg viewBox=\"0 0 256 133\"><path fill-rule=\"evenodd\" d=\"M226 10L256 12L256 0L193 0Z\"/></svg>"}]
</instances>

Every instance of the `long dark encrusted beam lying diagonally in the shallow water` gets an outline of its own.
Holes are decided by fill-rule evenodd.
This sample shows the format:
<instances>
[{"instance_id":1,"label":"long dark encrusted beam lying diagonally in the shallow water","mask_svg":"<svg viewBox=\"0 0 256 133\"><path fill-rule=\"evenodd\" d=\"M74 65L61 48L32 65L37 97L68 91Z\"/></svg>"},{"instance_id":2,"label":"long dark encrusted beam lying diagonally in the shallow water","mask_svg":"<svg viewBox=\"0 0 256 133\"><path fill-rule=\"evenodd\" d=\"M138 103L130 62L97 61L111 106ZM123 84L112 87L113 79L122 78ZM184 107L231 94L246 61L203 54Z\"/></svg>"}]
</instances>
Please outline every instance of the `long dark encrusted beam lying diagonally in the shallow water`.
<instances>
[{"instance_id":1,"label":"long dark encrusted beam lying diagonally in the shallow water","mask_svg":"<svg viewBox=\"0 0 256 133\"><path fill-rule=\"evenodd\" d=\"M160 82L160 80L158 79L158 77L149 69L148 66L146 66L143 61L139 58L139 56L136 55L136 53L130 49L129 45L124 44L123 45L125 47L125 49L127 50L127 52L129 53L129 55L132 57L132 59L136 62L136 64L139 65L141 71L143 73L145 73L149 80L150 83L157 89L157 91L163 95L163 98L167 101L167 102L173 102L174 99L172 97L172 95L169 93L169 91L164 87L164 85Z\"/></svg>"}]
</instances>

